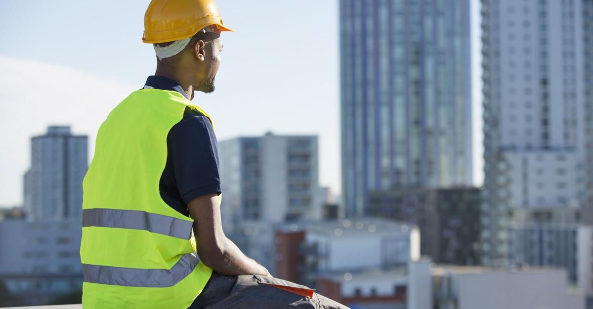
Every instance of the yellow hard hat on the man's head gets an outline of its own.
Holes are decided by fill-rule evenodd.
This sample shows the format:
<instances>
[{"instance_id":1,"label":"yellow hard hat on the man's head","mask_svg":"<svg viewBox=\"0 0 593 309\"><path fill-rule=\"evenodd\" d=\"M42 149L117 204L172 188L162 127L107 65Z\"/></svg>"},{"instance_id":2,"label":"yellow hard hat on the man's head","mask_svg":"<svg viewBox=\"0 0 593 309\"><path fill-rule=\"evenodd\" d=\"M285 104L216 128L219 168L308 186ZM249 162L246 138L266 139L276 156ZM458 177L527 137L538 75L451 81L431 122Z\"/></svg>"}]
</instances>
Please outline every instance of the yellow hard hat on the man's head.
<instances>
[{"instance_id":1,"label":"yellow hard hat on the man's head","mask_svg":"<svg viewBox=\"0 0 593 309\"><path fill-rule=\"evenodd\" d=\"M142 41L177 41L210 25L216 25L220 31L235 31L224 25L213 0L152 0L144 15Z\"/></svg>"}]
</instances>

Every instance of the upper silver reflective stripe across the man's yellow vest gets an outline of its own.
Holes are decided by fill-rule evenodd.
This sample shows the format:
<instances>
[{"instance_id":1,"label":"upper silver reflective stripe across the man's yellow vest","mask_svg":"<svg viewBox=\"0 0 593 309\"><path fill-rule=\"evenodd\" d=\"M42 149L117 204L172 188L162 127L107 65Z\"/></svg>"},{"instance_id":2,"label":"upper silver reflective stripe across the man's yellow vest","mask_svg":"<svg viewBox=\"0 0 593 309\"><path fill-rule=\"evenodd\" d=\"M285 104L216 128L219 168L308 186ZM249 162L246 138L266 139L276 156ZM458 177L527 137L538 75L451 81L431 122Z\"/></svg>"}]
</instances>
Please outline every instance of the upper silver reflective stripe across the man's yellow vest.
<instances>
[{"instance_id":1,"label":"upper silver reflective stripe across the man's yellow vest","mask_svg":"<svg viewBox=\"0 0 593 309\"><path fill-rule=\"evenodd\" d=\"M91 208L82 210L82 227L88 226L146 230L180 239L190 239L193 222L141 210Z\"/></svg>"}]
</instances>

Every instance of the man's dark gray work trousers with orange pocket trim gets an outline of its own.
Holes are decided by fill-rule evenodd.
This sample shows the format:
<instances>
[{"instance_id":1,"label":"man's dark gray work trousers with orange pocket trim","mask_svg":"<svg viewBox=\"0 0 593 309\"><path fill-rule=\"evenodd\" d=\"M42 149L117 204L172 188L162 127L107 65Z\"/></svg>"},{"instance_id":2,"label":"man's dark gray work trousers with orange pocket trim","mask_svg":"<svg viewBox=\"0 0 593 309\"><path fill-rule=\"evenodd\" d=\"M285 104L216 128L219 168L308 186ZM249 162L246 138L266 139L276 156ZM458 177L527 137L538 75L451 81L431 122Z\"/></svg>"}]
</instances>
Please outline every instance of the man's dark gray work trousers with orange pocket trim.
<instances>
[{"instance_id":1,"label":"man's dark gray work trousers with orange pocket trim","mask_svg":"<svg viewBox=\"0 0 593 309\"><path fill-rule=\"evenodd\" d=\"M269 284L307 289L268 276L225 276L212 271L208 284L189 308L348 308L317 293L309 298Z\"/></svg>"}]
</instances>

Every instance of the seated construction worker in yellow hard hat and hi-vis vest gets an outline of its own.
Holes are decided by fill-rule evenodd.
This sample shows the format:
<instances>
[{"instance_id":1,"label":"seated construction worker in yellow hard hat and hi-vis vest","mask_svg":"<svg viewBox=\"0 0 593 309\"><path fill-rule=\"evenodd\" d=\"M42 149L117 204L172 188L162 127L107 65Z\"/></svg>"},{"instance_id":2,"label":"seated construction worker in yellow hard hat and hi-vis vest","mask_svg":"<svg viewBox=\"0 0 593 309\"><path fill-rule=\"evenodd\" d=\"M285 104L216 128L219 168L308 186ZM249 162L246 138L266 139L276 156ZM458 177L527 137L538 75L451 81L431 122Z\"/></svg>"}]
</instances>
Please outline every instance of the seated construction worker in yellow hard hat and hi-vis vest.
<instances>
[{"instance_id":1,"label":"seated construction worker in yellow hard hat and hi-vis vest","mask_svg":"<svg viewBox=\"0 0 593 309\"><path fill-rule=\"evenodd\" d=\"M84 308L346 308L273 278L221 226L212 92L224 24L212 0L153 0L157 70L110 112L83 182ZM270 244L271 245L271 244Z\"/></svg>"}]
</instances>

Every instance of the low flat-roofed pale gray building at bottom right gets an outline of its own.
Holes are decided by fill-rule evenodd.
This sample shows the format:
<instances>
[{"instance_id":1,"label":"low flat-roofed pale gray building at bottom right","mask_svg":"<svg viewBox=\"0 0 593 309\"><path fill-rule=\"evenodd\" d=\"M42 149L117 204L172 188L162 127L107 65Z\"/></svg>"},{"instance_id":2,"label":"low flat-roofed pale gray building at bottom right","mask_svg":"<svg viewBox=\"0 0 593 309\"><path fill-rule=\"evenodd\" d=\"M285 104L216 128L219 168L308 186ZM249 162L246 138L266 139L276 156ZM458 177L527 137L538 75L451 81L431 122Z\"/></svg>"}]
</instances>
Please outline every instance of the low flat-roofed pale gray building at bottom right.
<instances>
[{"instance_id":1,"label":"low flat-roofed pale gray building at bottom right","mask_svg":"<svg viewBox=\"0 0 593 309\"><path fill-rule=\"evenodd\" d=\"M437 266L431 275L431 307L436 309L585 308L584 295L570 288L563 269ZM419 292L424 291L421 287Z\"/></svg>"}]
</instances>

